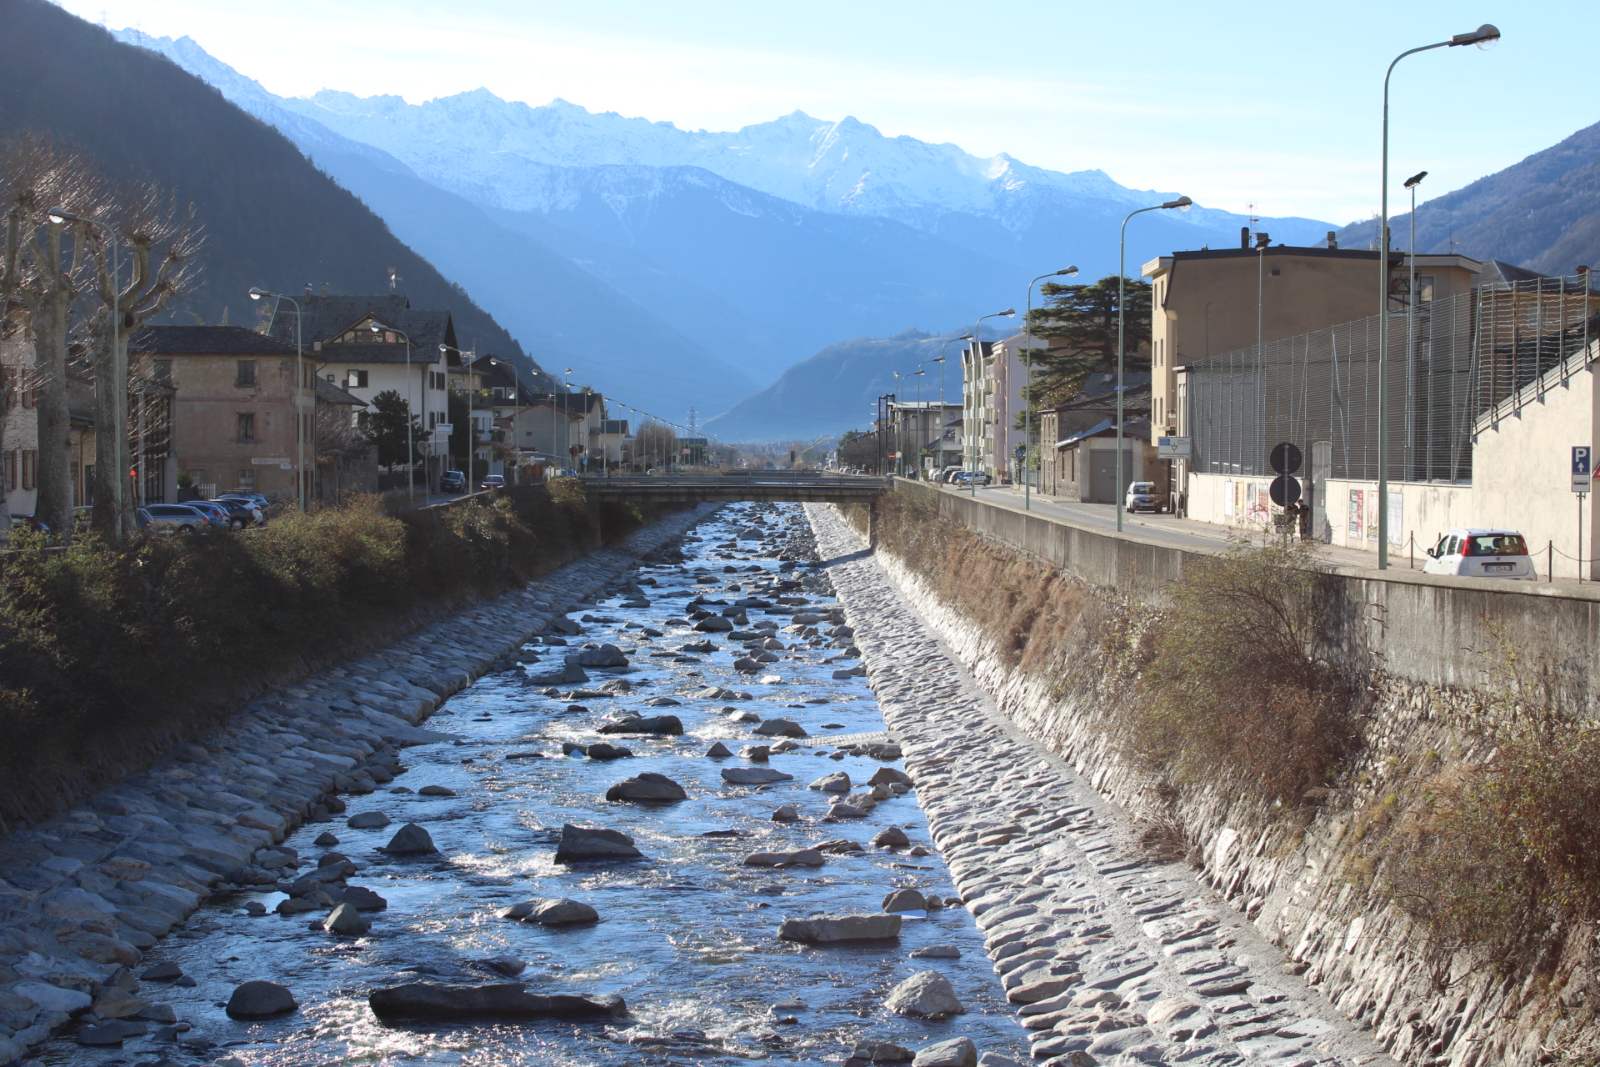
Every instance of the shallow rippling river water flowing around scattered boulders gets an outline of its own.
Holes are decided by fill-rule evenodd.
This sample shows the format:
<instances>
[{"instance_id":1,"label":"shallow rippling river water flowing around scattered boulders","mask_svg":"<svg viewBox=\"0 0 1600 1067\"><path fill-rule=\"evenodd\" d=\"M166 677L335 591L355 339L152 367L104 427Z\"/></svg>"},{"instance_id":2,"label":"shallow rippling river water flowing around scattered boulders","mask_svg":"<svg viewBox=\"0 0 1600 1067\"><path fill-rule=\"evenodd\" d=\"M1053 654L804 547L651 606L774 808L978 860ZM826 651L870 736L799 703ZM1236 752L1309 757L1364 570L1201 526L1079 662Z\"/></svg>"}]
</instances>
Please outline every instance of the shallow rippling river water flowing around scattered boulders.
<instances>
[{"instance_id":1,"label":"shallow rippling river water flowing around scattered boulders","mask_svg":"<svg viewBox=\"0 0 1600 1067\"><path fill-rule=\"evenodd\" d=\"M763 539L738 541L760 522ZM322 912L285 918L272 913L282 894L213 899L186 926L157 945L149 960L171 960L192 987L146 982L141 995L170 1003L192 1029L174 1041L157 1035L122 1049L86 1049L69 1040L43 1054L48 1064L838 1064L861 1040L909 1048L971 1037L979 1049L1026 1057L1014 1022L984 957L982 941L965 909L910 912L899 944L872 947L802 947L778 939L786 917L872 913L898 886L954 896L936 853L874 849L874 833L899 825L912 845L930 845L914 793L874 808L866 819L822 822L827 798L806 789L811 779L846 771L862 784L883 763L843 755L830 739L878 734L883 720L864 678L835 678L856 661L848 640L829 641L827 625L811 633L790 622L794 606L771 613L750 608L749 625L778 624L773 637L787 648L762 673L738 673L746 649L722 633L696 633L685 617L691 598L731 603L762 597L806 598L800 609L826 609L826 566L779 561L779 545L806 544L797 506L738 504L698 526L683 542L683 560L646 563L634 579L650 606L622 606L621 592L573 611L582 635L568 646L533 641L515 667L491 673L451 697L427 723L451 741L402 752L405 771L376 793L350 797L349 811L331 822L307 824L285 845L302 867L326 851L312 840L338 835L339 853L368 886L387 901L371 913L371 933L357 939L312 929ZM779 589L779 582L789 582ZM709 611L720 611L709 605ZM790 627L790 629L786 629ZM742 629L742 627L741 627ZM678 653L710 638L706 654ZM630 689L578 699L547 696L528 677L558 669L562 657L587 641L610 641L630 659L624 670L590 669L584 688L626 678ZM771 680L776 675L778 680ZM706 686L750 693L752 699L694 699ZM674 697L680 705L650 705ZM728 713L723 709L733 709ZM683 736L603 737L634 750L634 758L597 761L563 755L563 742L602 741L598 725L622 712L674 713ZM800 747L765 766L795 776L763 789L726 785L722 768L762 766L741 758L754 721L784 717L810 734ZM723 741L734 755L712 760L707 747ZM688 800L670 806L608 803L606 789L642 771L680 782ZM424 797L443 785L453 797ZM779 824L782 803L802 821ZM394 824L352 830L344 819L382 811ZM378 851L403 822L429 830L438 856L389 859ZM563 822L622 830L643 861L562 867L554 862ZM722 832L715 837L706 837ZM733 833L726 833L733 832ZM866 849L829 854L821 869L744 867L754 851L787 851L846 838ZM573 897L592 904L600 923L546 929L502 918L520 901ZM250 915L246 904L267 915ZM914 960L926 945L954 945L960 958ZM384 1025L366 1005L376 987L402 982L501 982L485 960L526 963L517 981L530 992L618 993L629 1014L616 1022ZM141 968L142 969L142 968ZM942 973L966 1014L942 1022L904 1019L883 1008L896 982L922 969ZM270 979L293 990L299 1011L267 1022L235 1022L222 1005L238 982ZM155 1030L155 1027L152 1027Z\"/></svg>"}]
</instances>

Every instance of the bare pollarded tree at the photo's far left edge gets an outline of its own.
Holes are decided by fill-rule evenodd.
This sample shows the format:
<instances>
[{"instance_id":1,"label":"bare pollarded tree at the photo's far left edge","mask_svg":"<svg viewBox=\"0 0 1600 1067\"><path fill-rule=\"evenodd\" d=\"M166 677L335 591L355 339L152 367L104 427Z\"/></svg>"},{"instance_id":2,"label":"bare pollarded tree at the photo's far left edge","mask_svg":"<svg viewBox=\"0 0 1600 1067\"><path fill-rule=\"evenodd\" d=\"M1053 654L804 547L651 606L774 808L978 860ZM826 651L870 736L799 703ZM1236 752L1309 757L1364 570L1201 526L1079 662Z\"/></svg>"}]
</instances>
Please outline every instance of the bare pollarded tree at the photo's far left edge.
<instances>
[{"instance_id":1,"label":"bare pollarded tree at the photo's far left edge","mask_svg":"<svg viewBox=\"0 0 1600 1067\"><path fill-rule=\"evenodd\" d=\"M35 358L30 373L38 392L38 504L34 515L62 539L72 536L67 339L74 302L88 280L88 256L83 242L64 240L48 213L59 203L98 205L101 197L93 170L72 152L30 136L0 147L0 208L5 210L0 309L14 301L27 314ZM10 530L8 518L3 528Z\"/></svg>"}]
</instances>

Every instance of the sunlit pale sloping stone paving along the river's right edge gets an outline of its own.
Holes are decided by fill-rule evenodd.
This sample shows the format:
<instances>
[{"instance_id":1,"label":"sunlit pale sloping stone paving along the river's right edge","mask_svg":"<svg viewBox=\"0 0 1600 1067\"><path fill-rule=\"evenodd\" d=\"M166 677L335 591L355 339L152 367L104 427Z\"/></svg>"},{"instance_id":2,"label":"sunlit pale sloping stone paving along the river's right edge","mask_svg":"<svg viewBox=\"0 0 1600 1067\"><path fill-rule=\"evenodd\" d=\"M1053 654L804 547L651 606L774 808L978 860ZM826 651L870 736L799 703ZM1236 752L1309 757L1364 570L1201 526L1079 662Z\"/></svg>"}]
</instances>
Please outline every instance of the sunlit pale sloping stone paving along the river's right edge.
<instances>
[{"instance_id":1,"label":"sunlit pale sloping stone paving along the river's right edge","mask_svg":"<svg viewBox=\"0 0 1600 1067\"><path fill-rule=\"evenodd\" d=\"M934 843L1035 1059L1389 1064L1182 864L1147 857L1096 784L1022 736L939 635L971 629L832 507L808 507Z\"/></svg>"}]
</instances>

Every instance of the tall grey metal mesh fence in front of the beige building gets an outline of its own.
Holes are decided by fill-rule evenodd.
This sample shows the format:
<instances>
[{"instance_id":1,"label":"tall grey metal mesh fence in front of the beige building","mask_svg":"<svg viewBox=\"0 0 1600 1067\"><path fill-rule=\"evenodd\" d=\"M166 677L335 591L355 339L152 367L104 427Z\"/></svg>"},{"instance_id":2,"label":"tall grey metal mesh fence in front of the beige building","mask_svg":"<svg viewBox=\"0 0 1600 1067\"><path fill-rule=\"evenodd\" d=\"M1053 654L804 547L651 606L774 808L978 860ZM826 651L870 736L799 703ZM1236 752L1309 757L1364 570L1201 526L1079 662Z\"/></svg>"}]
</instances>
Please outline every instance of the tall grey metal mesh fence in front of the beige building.
<instances>
[{"instance_id":1,"label":"tall grey metal mesh fence in front of the beige building","mask_svg":"<svg viewBox=\"0 0 1600 1067\"><path fill-rule=\"evenodd\" d=\"M1586 278L1482 286L1389 317L1389 360L1378 317L1238 349L1187 368L1190 469L1269 474L1278 442L1312 454L1331 443L1333 478L1378 478L1379 373L1387 386L1387 477L1470 482L1472 443L1539 395L1557 368L1594 358L1600 293Z\"/></svg>"}]
</instances>

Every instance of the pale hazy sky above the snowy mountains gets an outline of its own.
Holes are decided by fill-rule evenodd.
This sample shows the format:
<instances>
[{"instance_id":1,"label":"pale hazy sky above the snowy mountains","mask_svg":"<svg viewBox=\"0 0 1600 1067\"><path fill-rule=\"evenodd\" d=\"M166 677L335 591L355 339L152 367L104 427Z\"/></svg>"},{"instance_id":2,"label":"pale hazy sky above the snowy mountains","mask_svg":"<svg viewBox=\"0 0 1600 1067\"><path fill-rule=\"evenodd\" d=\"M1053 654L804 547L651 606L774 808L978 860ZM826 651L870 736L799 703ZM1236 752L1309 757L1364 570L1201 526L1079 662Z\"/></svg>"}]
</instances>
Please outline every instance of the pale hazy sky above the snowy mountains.
<instances>
[{"instance_id":1,"label":"pale hazy sky above the snowy mountains","mask_svg":"<svg viewBox=\"0 0 1600 1067\"><path fill-rule=\"evenodd\" d=\"M1202 203L1378 211L1382 75L1480 22L1506 38L1395 72L1392 176L1438 195L1600 120L1595 0L1013 3L805 0L64 0L194 37L280 94L410 101L486 86L731 130L800 109Z\"/></svg>"}]
</instances>

